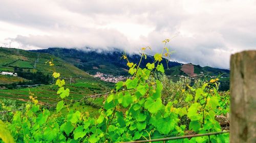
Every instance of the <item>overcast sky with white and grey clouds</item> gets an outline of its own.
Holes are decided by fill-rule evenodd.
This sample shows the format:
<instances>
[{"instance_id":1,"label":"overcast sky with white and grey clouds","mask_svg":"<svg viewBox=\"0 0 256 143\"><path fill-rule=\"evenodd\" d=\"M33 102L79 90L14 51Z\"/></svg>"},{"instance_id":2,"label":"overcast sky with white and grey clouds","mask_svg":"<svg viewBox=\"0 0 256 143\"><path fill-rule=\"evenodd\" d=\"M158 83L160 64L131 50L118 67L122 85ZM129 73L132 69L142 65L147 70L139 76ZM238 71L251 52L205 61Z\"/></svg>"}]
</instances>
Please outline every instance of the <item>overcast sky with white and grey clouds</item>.
<instances>
[{"instance_id":1,"label":"overcast sky with white and grey clouds","mask_svg":"<svg viewBox=\"0 0 256 143\"><path fill-rule=\"evenodd\" d=\"M175 51L171 61L229 68L256 49L256 1L0 0L0 46ZM11 42L11 44L10 44Z\"/></svg>"}]
</instances>

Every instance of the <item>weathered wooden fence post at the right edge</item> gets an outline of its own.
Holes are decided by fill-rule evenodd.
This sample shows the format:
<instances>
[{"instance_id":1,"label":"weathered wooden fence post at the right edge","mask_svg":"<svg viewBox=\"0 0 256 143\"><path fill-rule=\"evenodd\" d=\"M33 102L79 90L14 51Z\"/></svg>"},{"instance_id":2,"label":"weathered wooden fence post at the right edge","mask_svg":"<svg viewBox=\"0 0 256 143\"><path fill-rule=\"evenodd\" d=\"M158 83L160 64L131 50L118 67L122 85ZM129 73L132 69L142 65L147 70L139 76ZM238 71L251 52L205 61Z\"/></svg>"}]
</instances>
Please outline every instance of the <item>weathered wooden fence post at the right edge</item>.
<instances>
[{"instance_id":1,"label":"weathered wooden fence post at the right edge","mask_svg":"<svg viewBox=\"0 0 256 143\"><path fill-rule=\"evenodd\" d=\"M256 50L231 55L230 142L256 142Z\"/></svg>"}]
</instances>

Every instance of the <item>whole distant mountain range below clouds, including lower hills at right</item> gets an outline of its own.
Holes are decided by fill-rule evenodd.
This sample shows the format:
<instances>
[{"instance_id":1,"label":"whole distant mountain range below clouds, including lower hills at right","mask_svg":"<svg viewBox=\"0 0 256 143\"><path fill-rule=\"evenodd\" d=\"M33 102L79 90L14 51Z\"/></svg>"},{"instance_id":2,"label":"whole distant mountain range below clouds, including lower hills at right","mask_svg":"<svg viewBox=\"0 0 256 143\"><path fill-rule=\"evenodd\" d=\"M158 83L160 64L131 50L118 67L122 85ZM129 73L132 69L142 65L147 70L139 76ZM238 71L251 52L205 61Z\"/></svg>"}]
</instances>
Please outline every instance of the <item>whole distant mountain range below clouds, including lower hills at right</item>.
<instances>
[{"instance_id":1,"label":"whole distant mountain range below clouds, including lower hills at right","mask_svg":"<svg viewBox=\"0 0 256 143\"><path fill-rule=\"evenodd\" d=\"M82 69L90 74L101 72L104 74L112 75L127 75L126 61L121 59L122 51L82 51L77 49L65 49L65 48L48 48L42 50L35 50L36 52L51 53L59 58L75 65L79 69ZM138 63L140 55L133 54L127 55L130 62ZM145 67L148 62L153 62L154 57L147 55L146 60L142 60L141 67ZM201 67L200 65L193 64L181 64L178 62L162 61L165 68L165 74L169 75L174 81L179 80L182 76L189 76L193 79L196 75L207 75L208 78L220 78L221 86L220 90L226 91L229 89L229 70Z\"/></svg>"}]
</instances>

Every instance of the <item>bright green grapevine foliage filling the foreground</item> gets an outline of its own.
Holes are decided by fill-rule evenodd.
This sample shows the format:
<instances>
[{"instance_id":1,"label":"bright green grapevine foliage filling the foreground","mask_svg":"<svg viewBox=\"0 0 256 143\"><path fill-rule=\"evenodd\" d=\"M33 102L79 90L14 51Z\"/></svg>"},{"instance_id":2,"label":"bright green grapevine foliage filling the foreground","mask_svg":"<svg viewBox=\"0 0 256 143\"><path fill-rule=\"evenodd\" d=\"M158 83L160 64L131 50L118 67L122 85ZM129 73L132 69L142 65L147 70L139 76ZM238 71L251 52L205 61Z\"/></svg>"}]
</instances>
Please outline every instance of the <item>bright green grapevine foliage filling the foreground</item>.
<instances>
[{"instance_id":1,"label":"bright green grapevine foliage filling the foreground","mask_svg":"<svg viewBox=\"0 0 256 143\"><path fill-rule=\"evenodd\" d=\"M16 111L11 123L8 123L16 142L120 142L137 139L153 139L165 136L182 136L185 130L196 133L221 131L215 120L216 111L220 107L221 97L218 93L218 79L204 83L200 88L181 89L185 106L177 106L177 100L162 102L163 85L154 77L156 72L164 73L162 56L169 56L164 40L161 53L155 54L155 61L140 68L140 62L146 58L148 48L142 48L139 64L130 63L127 56L129 73L133 76L116 84L115 91L106 98L99 110L98 118L90 117L89 112L69 109L71 103L66 99L70 90L65 88L65 80L53 70L57 94L60 101L56 105L56 113L38 105L38 100L31 94L31 103L25 110ZM165 52L166 51L166 52ZM165 52L165 53L164 53ZM53 66L53 61L48 62ZM63 108L68 109L67 116L57 117ZM186 117L189 123L183 124ZM2 135L3 132L0 132ZM1 136L0 135L0 136ZM6 140L5 140L6 141ZM11 140L9 140L12 142ZM166 142L227 142L228 135L211 135L202 137L170 140Z\"/></svg>"}]
</instances>

